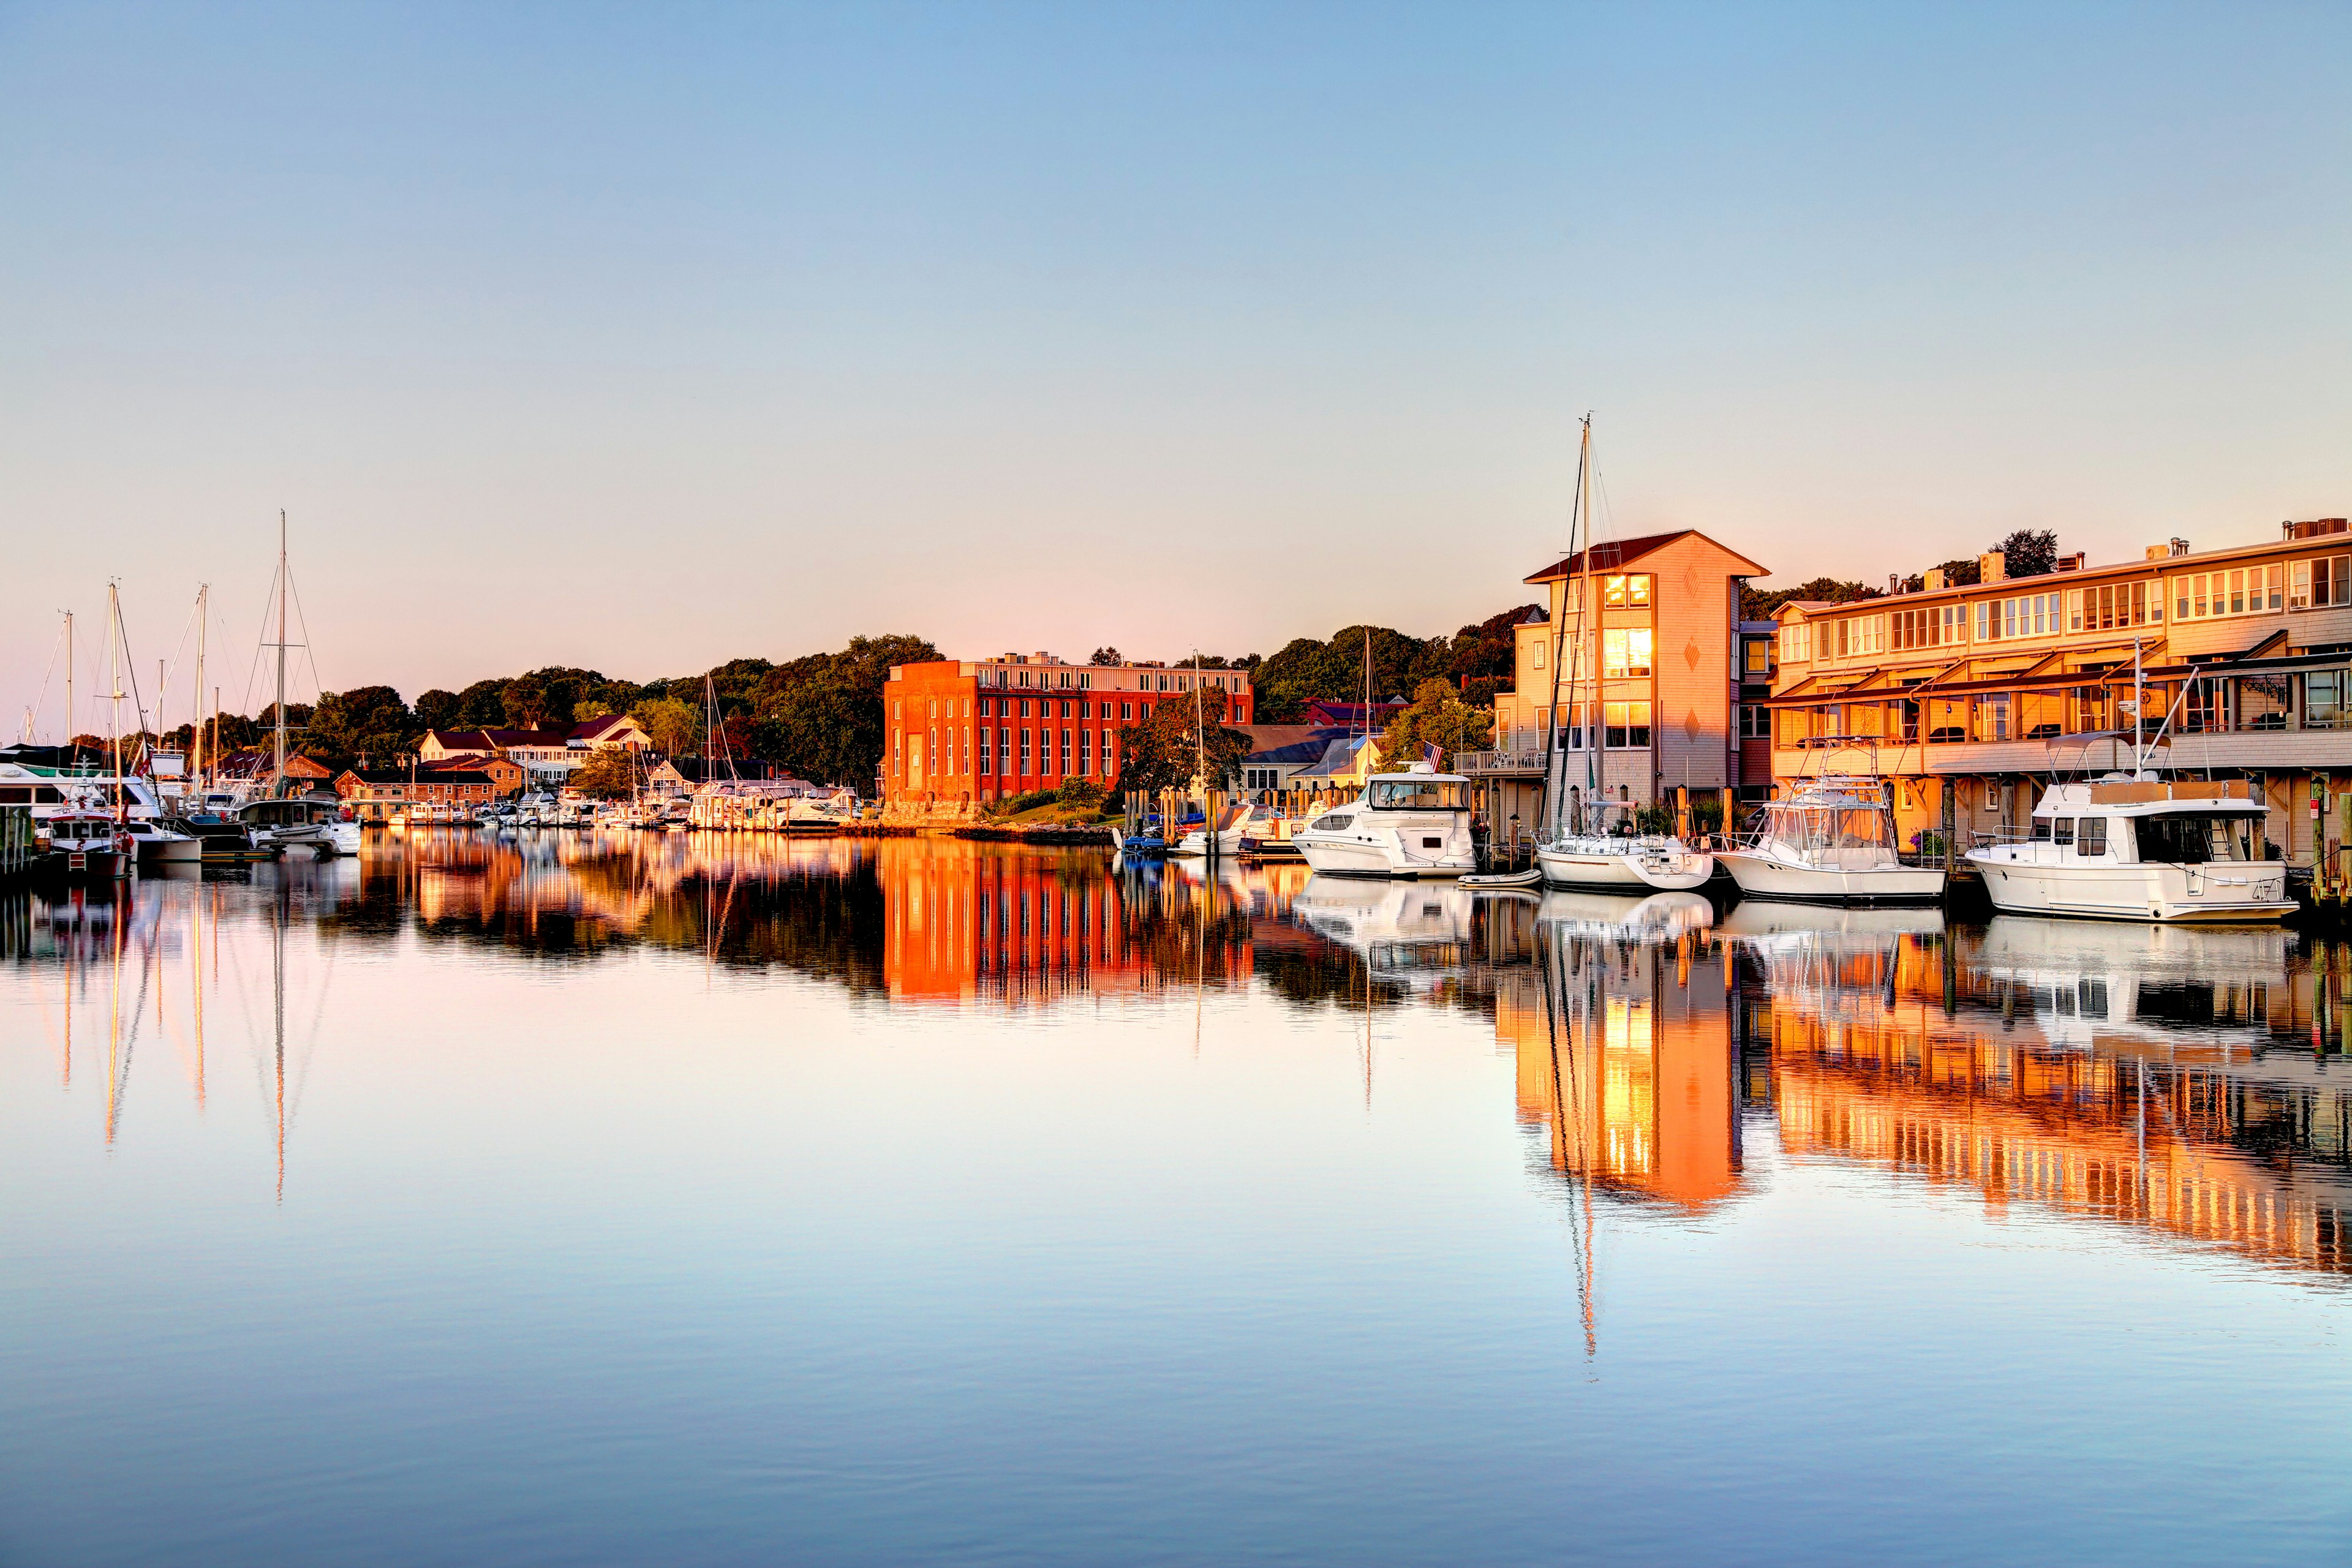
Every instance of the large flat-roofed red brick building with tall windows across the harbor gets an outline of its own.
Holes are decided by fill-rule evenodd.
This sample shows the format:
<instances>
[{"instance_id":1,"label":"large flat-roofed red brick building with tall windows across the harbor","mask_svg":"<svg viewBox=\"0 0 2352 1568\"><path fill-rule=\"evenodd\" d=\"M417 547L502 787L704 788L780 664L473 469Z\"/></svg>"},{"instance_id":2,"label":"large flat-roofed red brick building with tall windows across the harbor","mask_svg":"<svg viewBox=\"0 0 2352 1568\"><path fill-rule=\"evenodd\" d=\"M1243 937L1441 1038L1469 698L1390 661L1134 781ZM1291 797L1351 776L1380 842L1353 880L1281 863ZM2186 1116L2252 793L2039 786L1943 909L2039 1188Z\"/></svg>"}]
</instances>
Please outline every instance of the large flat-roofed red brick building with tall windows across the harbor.
<instances>
[{"instance_id":1,"label":"large flat-roofed red brick building with tall windows across the harbor","mask_svg":"<svg viewBox=\"0 0 2352 1568\"><path fill-rule=\"evenodd\" d=\"M1169 698L1192 701L1190 665L1070 665L1028 658L941 658L891 665L882 693L882 799L993 802L1120 776L1120 729ZM1225 693L1225 724L1249 724L1247 670L1200 670Z\"/></svg>"}]
</instances>

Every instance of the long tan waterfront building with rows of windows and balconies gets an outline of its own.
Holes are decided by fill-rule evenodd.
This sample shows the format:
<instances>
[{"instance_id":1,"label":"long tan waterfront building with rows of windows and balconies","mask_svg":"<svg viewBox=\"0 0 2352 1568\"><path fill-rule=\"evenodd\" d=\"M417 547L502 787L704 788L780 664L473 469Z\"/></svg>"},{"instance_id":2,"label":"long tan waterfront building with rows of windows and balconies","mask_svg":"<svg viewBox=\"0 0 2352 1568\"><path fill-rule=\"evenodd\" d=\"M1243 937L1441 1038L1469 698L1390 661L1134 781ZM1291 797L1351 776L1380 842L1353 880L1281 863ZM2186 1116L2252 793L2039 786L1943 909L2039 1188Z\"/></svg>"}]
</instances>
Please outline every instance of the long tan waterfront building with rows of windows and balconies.
<instances>
[{"instance_id":1,"label":"long tan waterfront building with rows of windows and balconies","mask_svg":"<svg viewBox=\"0 0 2352 1568\"><path fill-rule=\"evenodd\" d=\"M2112 567L2074 555L2023 578L1987 552L1978 576L1931 571L1915 592L1780 607L1769 701L1778 788L1875 766L1893 778L1905 839L1950 820L1966 849L2030 832L2051 780L2145 757L2176 776L2249 780L2270 802L2270 842L2296 865L2343 837L2343 517L2223 550L2173 538Z\"/></svg>"}]
</instances>

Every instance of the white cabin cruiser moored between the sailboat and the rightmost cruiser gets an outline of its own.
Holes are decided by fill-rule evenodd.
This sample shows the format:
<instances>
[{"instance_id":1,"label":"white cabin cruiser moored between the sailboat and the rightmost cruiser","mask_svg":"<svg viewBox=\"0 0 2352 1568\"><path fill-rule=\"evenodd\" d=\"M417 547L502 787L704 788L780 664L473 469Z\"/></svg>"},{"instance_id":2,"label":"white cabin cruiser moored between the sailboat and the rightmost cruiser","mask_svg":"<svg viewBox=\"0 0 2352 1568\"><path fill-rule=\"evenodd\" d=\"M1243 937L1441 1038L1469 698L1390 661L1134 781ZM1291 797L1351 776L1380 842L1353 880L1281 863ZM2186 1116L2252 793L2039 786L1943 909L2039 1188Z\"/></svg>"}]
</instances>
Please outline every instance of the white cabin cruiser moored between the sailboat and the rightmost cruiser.
<instances>
[{"instance_id":1,"label":"white cabin cruiser moored between the sailboat and the rightmost cruiser","mask_svg":"<svg viewBox=\"0 0 2352 1568\"><path fill-rule=\"evenodd\" d=\"M1877 778L1825 773L1764 802L1764 823L1715 856L1745 898L1797 903L1938 903L1943 870L1903 865L1896 816Z\"/></svg>"}]
</instances>

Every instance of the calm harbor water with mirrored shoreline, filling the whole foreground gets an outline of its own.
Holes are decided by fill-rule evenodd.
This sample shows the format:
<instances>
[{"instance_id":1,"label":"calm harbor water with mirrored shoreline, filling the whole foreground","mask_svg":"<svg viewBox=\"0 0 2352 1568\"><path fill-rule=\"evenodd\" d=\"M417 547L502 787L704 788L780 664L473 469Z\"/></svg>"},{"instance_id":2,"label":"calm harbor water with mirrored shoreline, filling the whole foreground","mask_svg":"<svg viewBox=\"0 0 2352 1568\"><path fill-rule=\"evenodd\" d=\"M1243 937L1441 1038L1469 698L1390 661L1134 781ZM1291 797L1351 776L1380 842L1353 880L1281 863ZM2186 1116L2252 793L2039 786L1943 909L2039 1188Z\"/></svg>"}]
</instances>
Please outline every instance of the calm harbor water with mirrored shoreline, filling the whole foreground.
<instances>
[{"instance_id":1,"label":"calm harbor water with mirrored shoreline, filling the whole foreground","mask_svg":"<svg viewBox=\"0 0 2352 1568\"><path fill-rule=\"evenodd\" d=\"M2345 950L668 835L0 896L5 1563L2343 1563Z\"/></svg>"}]
</instances>

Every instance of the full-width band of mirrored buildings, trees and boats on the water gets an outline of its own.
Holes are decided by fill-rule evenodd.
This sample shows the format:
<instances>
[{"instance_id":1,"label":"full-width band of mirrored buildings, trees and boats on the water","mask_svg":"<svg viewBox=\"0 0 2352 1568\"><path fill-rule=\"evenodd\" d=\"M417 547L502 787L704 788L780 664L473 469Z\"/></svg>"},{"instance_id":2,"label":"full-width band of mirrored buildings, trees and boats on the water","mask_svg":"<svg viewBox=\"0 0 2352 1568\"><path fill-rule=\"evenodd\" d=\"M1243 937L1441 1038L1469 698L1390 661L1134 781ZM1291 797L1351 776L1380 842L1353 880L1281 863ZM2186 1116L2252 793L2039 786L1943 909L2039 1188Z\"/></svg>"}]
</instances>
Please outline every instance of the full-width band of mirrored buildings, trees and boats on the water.
<instances>
[{"instance_id":1,"label":"full-width band of mirrored buildings, trees and boats on the water","mask_svg":"<svg viewBox=\"0 0 2352 1568\"><path fill-rule=\"evenodd\" d=\"M1691 893L1475 896L1298 865L706 832L414 832L358 860L0 896L0 952L28 976L59 1081L103 1060L103 1138L158 1051L202 1105L226 1018L280 1180L339 954L402 945L534 966L654 950L910 1009L1176 994L1195 1027L1211 994L1265 994L1359 1011L1367 1095L1381 1030L1411 1009L1491 1016L1515 1117L1588 1218L1700 1220L1755 1190L1769 1140L1994 1213L2032 1201L2352 1269L2352 964L2274 929L1947 931L1933 910L1724 912Z\"/></svg>"}]
</instances>

